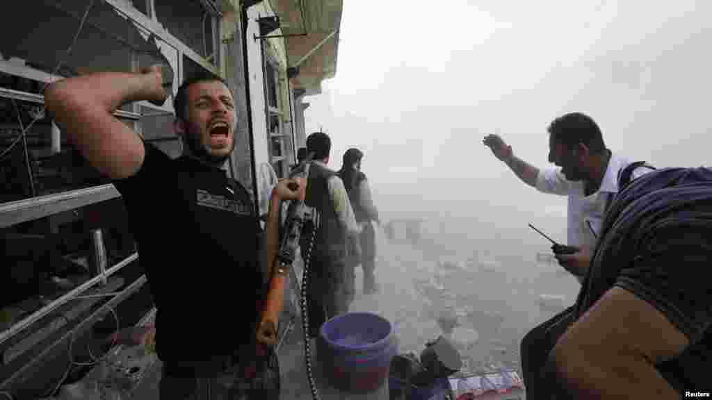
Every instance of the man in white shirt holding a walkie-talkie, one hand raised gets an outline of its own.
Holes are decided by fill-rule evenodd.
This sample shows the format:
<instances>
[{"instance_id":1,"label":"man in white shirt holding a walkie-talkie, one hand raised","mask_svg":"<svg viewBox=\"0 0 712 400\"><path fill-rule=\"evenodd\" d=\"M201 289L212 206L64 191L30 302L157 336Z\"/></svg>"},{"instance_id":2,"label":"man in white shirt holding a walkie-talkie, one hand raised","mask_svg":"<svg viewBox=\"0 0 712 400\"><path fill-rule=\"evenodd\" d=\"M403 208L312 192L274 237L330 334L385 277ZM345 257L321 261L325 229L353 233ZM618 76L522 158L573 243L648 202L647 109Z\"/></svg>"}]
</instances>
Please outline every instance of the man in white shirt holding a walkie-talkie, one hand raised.
<instances>
[{"instance_id":1,"label":"man in white shirt holding a walkie-talkie, one hand raised","mask_svg":"<svg viewBox=\"0 0 712 400\"><path fill-rule=\"evenodd\" d=\"M607 149L596 122L580 112L556 118L548 132L548 160L559 169L540 171L518 159L512 147L498 135L488 135L483 143L525 184L543 193L568 196L567 245L577 248L577 252L555 256L560 265L581 282L589 268L597 236L600 236L604 214L618 193L619 174L632 163ZM650 171L650 167L639 167L632 171L632 178ZM528 398L539 399L548 393L538 374L557 335L565 330L572 318L570 307L523 337L522 372Z\"/></svg>"}]
</instances>

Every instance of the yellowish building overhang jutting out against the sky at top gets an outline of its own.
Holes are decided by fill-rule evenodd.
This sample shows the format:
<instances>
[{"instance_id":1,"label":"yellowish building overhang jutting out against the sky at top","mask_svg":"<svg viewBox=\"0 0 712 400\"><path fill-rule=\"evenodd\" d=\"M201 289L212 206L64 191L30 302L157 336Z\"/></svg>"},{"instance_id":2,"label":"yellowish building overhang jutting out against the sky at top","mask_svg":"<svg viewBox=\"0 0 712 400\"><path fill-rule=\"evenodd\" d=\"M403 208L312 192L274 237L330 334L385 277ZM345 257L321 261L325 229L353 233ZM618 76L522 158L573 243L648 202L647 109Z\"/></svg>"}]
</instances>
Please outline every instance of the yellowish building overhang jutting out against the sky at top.
<instances>
[{"instance_id":1,"label":"yellowish building overhang jutting out against the sky at top","mask_svg":"<svg viewBox=\"0 0 712 400\"><path fill-rule=\"evenodd\" d=\"M289 67L299 63L299 75L291 79L293 88L307 95L321 93L321 83L336 75L342 0L269 0L280 18Z\"/></svg>"}]
</instances>

